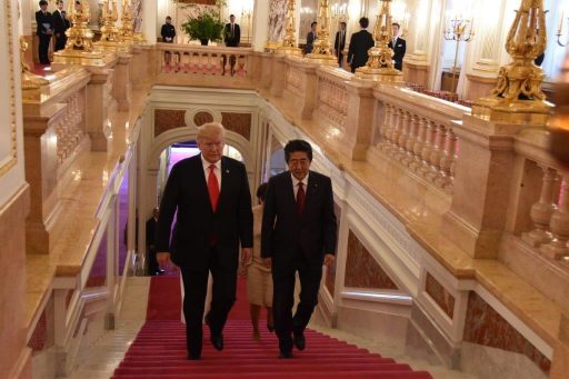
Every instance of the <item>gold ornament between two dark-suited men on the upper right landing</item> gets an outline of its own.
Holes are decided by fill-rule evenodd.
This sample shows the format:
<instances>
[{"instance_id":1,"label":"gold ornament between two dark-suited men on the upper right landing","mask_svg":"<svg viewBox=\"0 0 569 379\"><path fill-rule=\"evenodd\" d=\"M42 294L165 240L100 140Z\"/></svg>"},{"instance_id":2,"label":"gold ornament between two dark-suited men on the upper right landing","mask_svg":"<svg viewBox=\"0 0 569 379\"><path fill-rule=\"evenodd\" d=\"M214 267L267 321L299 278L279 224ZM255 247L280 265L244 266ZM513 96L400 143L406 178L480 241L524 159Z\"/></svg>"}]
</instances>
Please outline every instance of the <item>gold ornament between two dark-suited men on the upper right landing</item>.
<instances>
[{"instance_id":1,"label":"gold ornament between two dark-suited men on the upper right landing","mask_svg":"<svg viewBox=\"0 0 569 379\"><path fill-rule=\"evenodd\" d=\"M393 68L393 50L388 47L393 39L391 27L391 0L379 0L373 39L376 46L369 49L368 62L356 70L356 78L390 83L402 83L402 74Z\"/></svg>"}]
</instances>

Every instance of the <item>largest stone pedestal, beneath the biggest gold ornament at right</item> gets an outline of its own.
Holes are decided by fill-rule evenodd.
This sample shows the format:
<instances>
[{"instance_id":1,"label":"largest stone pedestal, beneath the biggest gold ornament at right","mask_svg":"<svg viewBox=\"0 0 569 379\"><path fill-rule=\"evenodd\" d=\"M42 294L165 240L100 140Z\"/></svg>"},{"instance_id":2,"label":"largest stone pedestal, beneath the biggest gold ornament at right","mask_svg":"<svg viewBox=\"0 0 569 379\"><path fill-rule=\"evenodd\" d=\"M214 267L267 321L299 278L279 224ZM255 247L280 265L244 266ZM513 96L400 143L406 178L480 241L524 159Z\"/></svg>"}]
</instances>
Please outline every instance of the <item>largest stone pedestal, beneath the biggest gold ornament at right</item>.
<instances>
[{"instance_id":1,"label":"largest stone pedestal, beneath the biggest gold ornament at right","mask_svg":"<svg viewBox=\"0 0 569 379\"><path fill-rule=\"evenodd\" d=\"M506 225L520 124L499 124L465 114L455 122L460 141L452 205L441 233L472 258L496 258Z\"/></svg>"}]
</instances>

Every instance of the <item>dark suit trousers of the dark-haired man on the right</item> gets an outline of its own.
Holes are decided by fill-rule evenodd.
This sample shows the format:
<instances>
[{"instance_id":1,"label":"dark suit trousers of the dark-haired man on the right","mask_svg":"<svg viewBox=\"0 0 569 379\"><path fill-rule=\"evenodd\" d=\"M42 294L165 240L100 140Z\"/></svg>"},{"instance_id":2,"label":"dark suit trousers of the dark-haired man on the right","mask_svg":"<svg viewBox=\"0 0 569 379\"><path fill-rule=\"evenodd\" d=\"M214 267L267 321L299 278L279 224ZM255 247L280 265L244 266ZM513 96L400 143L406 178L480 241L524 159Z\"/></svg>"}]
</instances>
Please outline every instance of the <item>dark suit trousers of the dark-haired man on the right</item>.
<instances>
[{"instance_id":1,"label":"dark suit trousers of the dark-haired man on the right","mask_svg":"<svg viewBox=\"0 0 569 379\"><path fill-rule=\"evenodd\" d=\"M322 278L322 267L309 265L300 247L292 251L292 265L282 266L273 259L272 281L273 300L272 311L274 318L274 331L279 337L281 351L292 349L291 332L303 332L310 317L318 305L318 290ZM295 282L296 272L300 278L300 302L295 316Z\"/></svg>"}]
</instances>

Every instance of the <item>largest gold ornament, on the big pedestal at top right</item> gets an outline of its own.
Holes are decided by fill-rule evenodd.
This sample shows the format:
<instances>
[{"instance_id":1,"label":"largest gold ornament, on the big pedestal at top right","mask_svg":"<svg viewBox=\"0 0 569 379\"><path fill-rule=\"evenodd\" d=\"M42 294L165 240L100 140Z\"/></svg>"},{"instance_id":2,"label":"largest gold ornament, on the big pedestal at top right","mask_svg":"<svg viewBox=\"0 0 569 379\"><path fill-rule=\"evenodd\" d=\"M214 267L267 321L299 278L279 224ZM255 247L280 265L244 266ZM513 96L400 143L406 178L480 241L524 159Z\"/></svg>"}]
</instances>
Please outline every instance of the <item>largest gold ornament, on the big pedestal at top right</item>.
<instances>
[{"instance_id":1,"label":"largest gold ornament, on the big pedestal at top right","mask_svg":"<svg viewBox=\"0 0 569 379\"><path fill-rule=\"evenodd\" d=\"M513 61L500 68L496 88L475 102L472 114L498 122L545 124L552 104L545 101L543 71L533 60L546 43L543 0L522 0L506 40Z\"/></svg>"}]
</instances>

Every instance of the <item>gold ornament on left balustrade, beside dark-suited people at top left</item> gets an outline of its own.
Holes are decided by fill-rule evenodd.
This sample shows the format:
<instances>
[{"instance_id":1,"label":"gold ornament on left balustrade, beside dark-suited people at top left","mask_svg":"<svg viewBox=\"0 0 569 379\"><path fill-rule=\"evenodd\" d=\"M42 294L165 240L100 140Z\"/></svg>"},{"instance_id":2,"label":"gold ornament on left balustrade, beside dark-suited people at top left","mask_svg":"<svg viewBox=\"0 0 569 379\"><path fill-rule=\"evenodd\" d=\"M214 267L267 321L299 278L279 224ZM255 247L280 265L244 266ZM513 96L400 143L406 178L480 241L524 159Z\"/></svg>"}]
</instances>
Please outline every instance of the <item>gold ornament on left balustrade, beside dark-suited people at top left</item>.
<instances>
[{"instance_id":1,"label":"gold ornament on left balustrade, beside dark-suited people at top left","mask_svg":"<svg viewBox=\"0 0 569 379\"><path fill-rule=\"evenodd\" d=\"M66 49L53 53L53 63L104 66L108 57L103 51L96 50L93 32L89 28L89 1L69 1L67 16L72 27L66 32Z\"/></svg>"}]
</instances>

